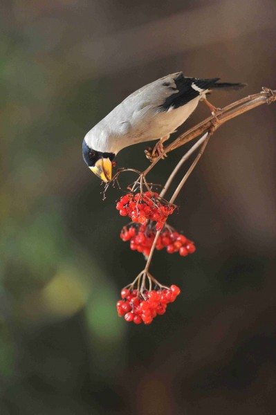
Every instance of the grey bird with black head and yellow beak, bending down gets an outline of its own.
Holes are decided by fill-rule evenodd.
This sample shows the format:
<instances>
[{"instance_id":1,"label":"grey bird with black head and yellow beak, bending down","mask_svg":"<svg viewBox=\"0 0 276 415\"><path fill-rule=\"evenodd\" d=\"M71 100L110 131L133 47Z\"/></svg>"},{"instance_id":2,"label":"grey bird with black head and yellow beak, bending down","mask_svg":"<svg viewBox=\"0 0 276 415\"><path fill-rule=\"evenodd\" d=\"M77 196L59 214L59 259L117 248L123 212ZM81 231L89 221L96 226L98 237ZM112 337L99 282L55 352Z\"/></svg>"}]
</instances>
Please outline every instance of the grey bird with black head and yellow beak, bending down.
<instances>
[{"instance_id":1,"label":"grey bird with black head and yellow beak, bending down","mask_svg":"<svg viewBox=\"0 0 276 415\"><path fill-rule=\"evenodd\" d=\"M91 171L104 182L111 181L118 152L139 142L163 142L194 112L199 101L216 112L207 99L212 89L241 89L246 84L218 82L219 77L201 79L172 73L131 93L84 137L82 156Z\"/></svg>"}]
</instances>

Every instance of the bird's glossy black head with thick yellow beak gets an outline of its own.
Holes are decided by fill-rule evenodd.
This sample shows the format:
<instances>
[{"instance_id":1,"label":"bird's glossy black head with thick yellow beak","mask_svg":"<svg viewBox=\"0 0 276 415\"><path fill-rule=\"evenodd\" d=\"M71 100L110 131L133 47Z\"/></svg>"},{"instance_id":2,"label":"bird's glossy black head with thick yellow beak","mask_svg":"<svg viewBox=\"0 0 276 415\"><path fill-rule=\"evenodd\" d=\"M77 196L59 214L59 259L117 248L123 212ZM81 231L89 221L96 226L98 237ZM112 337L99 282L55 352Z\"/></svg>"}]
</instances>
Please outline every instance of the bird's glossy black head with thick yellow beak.
<instances>
[{"instance_id":1,"label":"bird's glossy black head with thick yellow beak","mask_svg":"<svg viewBox=\"0 0 276 415\"><path fill-rule=\"evenodd\" d=\"M114 153L96 151L86 144L85 138L82 143L82 156L89 169L104 182L111 181L112 160L116 156Z\"/></svg>"}]
</instances>

